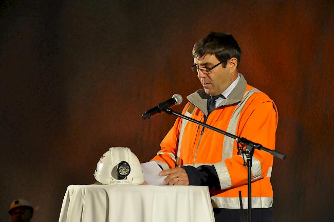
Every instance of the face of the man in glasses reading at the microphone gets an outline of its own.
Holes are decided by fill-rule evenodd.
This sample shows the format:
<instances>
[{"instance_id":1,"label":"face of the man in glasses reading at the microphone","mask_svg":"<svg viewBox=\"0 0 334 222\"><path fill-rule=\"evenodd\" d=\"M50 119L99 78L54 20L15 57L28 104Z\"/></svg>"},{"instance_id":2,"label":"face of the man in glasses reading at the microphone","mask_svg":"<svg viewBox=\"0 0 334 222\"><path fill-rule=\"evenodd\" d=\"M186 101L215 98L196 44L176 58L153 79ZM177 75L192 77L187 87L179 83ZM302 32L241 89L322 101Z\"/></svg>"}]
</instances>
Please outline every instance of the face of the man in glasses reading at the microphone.
<instances>
[{"instance_id":1,"label":"face of the man in glasses reading at the microphone","mask_svg":"<svg viewBox=\"0 0 334 222\"><path fill-rule=\"evenodd\" d=\"M214 54L205 54L202 58L194 58L194 64L198 65L201 69L211 68L218 64L220 61ZM218 65L211 70L208 75L203 74L200 70L197 72L197 77L201 82L206 94L208 95L219 95L225 89L227 89L234 80L234 75L231 72L229 61L225 68L222 65Z\"/></svg>"}]
</instances>

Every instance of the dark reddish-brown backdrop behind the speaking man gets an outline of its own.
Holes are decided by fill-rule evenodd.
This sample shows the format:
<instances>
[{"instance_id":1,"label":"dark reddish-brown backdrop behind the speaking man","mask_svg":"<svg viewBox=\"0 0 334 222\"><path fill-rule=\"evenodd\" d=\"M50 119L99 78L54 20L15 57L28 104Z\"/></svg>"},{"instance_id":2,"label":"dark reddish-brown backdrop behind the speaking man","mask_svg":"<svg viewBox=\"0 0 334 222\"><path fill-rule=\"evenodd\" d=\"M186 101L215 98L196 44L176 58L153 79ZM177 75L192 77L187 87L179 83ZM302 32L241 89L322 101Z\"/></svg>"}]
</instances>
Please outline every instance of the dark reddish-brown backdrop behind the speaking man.
<instances>
[{"instance_id":1,"label":"dark reddish-brown backdrop behind the speaking man","mask_svg":"<svg viewBox=\"0 0 334 222\"><path fill-rule=\"evenodd\" d=\"M175 117L141 113L201 87L191 48L209 31L235 36L239 71L279 108L276 221L332 221L333 14L331 1L3 1L0 221L16 197L57 221L110 146L149 161Z\"/></svg>"}]
</instances>

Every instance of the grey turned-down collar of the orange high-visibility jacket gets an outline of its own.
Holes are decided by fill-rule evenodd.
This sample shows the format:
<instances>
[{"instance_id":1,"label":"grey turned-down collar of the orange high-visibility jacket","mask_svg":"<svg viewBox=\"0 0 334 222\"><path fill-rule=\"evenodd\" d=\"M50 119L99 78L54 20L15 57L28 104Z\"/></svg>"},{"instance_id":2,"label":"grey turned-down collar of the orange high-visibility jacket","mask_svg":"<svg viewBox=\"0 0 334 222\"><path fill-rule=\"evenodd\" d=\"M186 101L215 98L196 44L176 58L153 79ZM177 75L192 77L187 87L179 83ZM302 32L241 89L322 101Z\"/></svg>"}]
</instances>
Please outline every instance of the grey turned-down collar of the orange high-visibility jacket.
<instances>
[{"instance_id":1,"label":"grey turned-down collar of the orange high-visibility jacket","mask_svg":"<svg viewBox=\"0 0 334 222\"><path fill-rule=\"evenodd\" d=\"M244 76L240 73L240 80L236 84L235 88L232 90L231 94L218 106L229 106L239 103L245 94L247 82ZM198 107L207 116L207 101L209 95L205 93L204 89L199 89L195 93L187 96L189 102Z\"/></svg>"}]
</instances>

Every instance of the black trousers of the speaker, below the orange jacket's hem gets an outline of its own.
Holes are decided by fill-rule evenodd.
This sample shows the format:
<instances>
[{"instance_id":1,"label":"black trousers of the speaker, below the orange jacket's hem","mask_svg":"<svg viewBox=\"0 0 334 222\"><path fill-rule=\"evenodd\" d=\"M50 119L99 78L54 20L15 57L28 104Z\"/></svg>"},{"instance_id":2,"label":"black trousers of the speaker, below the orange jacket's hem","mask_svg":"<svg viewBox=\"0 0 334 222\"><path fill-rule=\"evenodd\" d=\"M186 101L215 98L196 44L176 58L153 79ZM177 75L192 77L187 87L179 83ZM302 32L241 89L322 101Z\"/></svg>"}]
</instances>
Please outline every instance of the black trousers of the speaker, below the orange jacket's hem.
<instances>
[{"instance_id":1,"label":"black trousers of the speaker, below the orange jacket's hem","mask_svg":"<svg viewBox=\"0 0 334 222\"><path fill-rule=\"evenodd\" d=\"M247 222L247 209L213 208L216 222ZM244 216L243 216L244 215ZM272 208L253 208L252 222L273 222Z\"/></svg>"}]
</instances>

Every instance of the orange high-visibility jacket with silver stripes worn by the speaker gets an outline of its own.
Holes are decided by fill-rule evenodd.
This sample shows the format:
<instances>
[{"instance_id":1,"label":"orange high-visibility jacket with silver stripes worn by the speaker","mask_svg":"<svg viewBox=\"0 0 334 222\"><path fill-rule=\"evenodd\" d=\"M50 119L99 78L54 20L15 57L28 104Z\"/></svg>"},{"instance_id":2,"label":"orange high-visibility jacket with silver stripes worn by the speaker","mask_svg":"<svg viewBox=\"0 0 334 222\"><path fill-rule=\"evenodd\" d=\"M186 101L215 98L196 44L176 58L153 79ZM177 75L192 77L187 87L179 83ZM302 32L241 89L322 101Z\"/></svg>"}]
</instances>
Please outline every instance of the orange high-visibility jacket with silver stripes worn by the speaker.
<instances>
[{"instance_id":1,"label":"orange high-visibility jacket with silver stripes worn by the speaker","mask_svg":"<svg viewBox=\"0 0 334 222\"><path fill-rule=\"evenodd\" d=\"M207 98L203 89L189 95L189 102L182 114L274 150L277 108L266 94L248 85L243 75L240 74L240 80L231 94L208 117ZM221 190L210 189L212 206L240 208L238 192L241 191L243 208L247 208L247 167L243 165L243 156L237 152L234 139L177 118L161 142L161 151L152 160L163 169L182 165L214 165ZM272 164L272 155L265 151L254 151L252 208L272 206Z\"/></svg>"}]
</instances>

